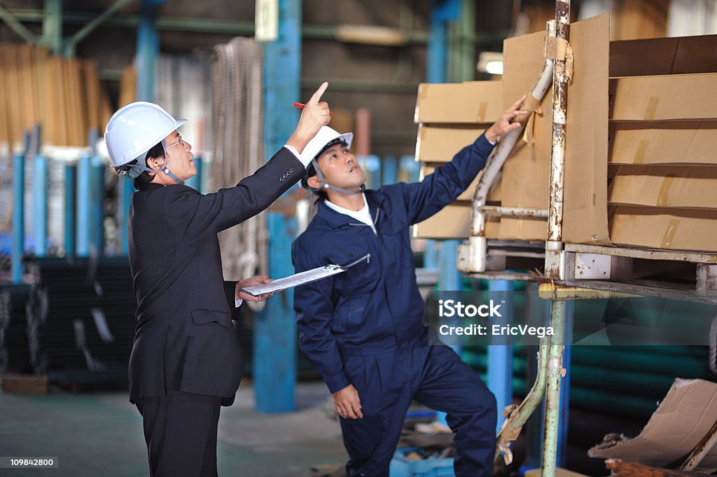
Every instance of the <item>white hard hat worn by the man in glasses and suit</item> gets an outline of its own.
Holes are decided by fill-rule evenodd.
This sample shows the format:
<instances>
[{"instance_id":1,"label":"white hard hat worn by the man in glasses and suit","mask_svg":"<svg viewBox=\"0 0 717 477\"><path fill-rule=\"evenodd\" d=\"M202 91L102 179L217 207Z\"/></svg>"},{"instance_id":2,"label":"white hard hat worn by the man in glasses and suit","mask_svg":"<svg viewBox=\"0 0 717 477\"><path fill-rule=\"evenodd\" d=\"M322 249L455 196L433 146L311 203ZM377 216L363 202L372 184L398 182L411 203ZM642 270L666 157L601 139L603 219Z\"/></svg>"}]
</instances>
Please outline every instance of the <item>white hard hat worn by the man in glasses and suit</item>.
<instances>
[{"instance_id":1,"label":"white hard hat worn by the man in glasses and suit","mask_svg":"<svg viewBox=\"0 0 717 477\"><path fill-rule=\"evenodd\" d=\"M186 123L177 121L160 106L136 101L112 115L105 128L105 144L113 167L123 166L147 154L151 148Z\"/></svg>"}]
</instances>

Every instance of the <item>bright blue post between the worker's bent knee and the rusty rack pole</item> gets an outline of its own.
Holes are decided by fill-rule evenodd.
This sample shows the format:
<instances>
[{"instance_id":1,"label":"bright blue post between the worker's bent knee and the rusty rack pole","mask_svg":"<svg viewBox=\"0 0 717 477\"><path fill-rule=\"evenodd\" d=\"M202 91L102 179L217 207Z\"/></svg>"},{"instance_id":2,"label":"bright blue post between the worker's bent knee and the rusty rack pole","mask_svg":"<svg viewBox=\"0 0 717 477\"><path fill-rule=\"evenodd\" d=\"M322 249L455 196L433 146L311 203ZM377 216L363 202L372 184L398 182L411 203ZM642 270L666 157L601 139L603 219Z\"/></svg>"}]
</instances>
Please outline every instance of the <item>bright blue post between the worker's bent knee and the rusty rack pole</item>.
<instances>
[{"instance_id":1,"label":"bright blue post between the worker's bent knee and the rusty rack pole","mask_svg":"<svg viewBox=\"0 0 717 477\"><path fill-rule=\"evenodd\" d=\"M491 323L505 324L513 321L513 282L507 280L489 280L490 298L500 299L505 303L500 307L503 316L495 318ZM503 293L500 293L503 292ZM488 346L488 389L495 395L498 414L505 406L513 404L513 346L511 344L493 344ZM495 432L498 433L503 422L499 419Z\"/></svg>"}]
</instances>

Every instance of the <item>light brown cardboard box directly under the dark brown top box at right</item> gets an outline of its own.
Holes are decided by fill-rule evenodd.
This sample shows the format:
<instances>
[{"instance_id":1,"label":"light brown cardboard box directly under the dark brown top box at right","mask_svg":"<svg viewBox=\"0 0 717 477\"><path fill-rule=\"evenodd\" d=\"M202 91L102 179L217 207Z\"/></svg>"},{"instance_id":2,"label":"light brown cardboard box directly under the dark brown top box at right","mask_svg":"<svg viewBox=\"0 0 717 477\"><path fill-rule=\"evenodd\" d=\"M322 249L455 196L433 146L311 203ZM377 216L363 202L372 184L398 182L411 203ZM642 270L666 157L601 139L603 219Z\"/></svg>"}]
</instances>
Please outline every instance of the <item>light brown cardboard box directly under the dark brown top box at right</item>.
<instances>
[{"instance_id":1,"label":"light brown cardboard box directly under the dark brown top box at right","mask_svg":"<svg viewBox=\"0 0 717 477\"><path fill-rule=\"evenodd\" d=\"M609 98L613 121L717 118L717 73L612 78Z\"/></svg>"}]
</instances>

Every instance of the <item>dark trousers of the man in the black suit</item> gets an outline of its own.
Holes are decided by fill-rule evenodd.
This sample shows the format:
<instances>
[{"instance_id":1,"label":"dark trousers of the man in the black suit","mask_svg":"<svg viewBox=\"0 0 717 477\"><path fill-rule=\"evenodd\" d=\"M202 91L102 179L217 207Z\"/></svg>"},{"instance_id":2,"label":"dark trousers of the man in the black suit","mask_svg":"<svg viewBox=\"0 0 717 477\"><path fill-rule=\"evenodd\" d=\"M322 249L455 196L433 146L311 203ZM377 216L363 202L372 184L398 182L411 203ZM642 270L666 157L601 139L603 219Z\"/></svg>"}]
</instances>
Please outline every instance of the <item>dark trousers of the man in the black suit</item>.
<instances>
[{"instance_id":1,"label":"dark trousers of the man in the black suit","mask_svg":"<svg viewBox=\"0 0 717 477\"><path fill-rule=\"evenodd\" d=\"M151 477L217 477L221 398L180 393L141 397Z\"/></svg>"}]
</instances>

